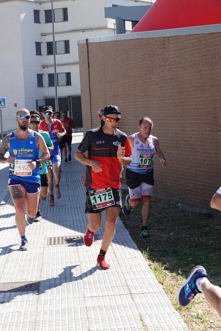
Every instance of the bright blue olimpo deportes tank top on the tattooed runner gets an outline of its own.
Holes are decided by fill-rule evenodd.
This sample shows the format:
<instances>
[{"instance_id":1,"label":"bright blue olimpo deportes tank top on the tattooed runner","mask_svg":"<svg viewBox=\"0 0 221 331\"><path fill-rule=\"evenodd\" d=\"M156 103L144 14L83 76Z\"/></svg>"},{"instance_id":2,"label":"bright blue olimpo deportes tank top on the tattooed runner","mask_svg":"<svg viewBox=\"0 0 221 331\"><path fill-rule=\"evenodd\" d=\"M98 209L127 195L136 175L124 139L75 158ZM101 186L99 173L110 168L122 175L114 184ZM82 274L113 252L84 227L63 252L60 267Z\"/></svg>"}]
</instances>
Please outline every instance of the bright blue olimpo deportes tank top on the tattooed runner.
<instances>
[{"instance_id":1,"label":"bright blue olimpo deportes tank top on the tattooed runner","mask_svg":"<svg viewBox=\"0 0 221 331\"><path fill-rule=\"evenodd\" d=\"M16 157L14 162L9 165L8 178L23 180L26 182L39 182L39 166L34 170L25 164L24 160L32 161L38 158L38 148L36 144L35 131L31 130L30 136L26 141L18 141L14 132L9 133L10 156ZM32 172L32 173L31 173Z\"/></svg>"}]
</instances>

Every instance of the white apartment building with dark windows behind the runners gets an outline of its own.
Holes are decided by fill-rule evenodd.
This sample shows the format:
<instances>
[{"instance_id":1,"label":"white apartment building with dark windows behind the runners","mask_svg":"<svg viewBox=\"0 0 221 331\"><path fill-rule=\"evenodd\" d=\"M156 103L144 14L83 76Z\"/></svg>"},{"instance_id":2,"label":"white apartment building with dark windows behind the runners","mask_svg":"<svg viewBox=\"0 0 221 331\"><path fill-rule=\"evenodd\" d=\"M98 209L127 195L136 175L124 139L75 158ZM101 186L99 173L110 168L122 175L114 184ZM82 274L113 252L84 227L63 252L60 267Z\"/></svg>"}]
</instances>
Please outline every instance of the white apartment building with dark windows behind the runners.
<instances>
[{"instance_id":1,"label":"white apartment building with dark windows behind the runners","mask_svg":"<svg viewBox=\"0 0 221 331\"><path fill-rule=\"evenodd\" d=\"M150 5L151 0L53 0L58 110L82 126L78 64L80 39L115 33L105 7ZM0 98L3 131L16 128L20 108L55 111L51 1L0 0ZM131 23L126 24L126 32ZM83 93L83 91L82 91Z\"/></svg>"}]
</instances>

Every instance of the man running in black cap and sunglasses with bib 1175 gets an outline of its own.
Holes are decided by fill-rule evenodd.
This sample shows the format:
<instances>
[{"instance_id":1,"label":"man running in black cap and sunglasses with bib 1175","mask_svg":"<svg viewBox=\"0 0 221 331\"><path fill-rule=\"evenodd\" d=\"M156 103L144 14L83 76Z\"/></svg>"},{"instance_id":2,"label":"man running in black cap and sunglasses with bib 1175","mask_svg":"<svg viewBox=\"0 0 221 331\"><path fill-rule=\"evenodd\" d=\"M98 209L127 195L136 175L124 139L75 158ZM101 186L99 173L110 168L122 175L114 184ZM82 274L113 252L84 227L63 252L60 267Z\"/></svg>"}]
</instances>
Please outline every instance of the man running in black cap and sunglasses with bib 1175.
<instances>
[{"instance_id":1,"label":"man running in black cap and sunglasses with bib 1175","mask_svg":"<svg viewBox=\"0 0 221 331\"><path fill-rule=\"evenodd\" d=\"M125 133L117 129L120 120L118 107L105 107L105 125L87 131L75 152L75 159L87 166L86 208L88 228L84 236L86 246L91 246L94 234L101 226L101 214L106 209L105 232L97 258L100 269L108 269L105 254L115 233L119 208L122 207L119 174L122 166L131 162L131 150ZM88 151L87 158L84 153Z\"/></svg>"}]
</instances>

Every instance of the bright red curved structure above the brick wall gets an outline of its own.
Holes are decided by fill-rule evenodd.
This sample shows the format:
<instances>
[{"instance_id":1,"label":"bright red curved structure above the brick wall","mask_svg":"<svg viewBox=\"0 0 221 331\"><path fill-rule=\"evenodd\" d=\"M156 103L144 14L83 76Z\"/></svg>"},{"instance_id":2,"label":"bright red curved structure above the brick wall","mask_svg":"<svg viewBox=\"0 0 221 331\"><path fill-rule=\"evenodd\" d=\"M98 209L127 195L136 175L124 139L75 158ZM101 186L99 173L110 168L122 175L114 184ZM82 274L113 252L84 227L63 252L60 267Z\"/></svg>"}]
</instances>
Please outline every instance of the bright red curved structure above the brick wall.
<instances>
[{"instance_id":1,"label":"bright red curved structure above the brick wall","mask_svg":"<svg viewBox=\"0 0 221 331\"><path fill-rule=\"evenodd\" d=\"M221 24L221 0L157 0L131 32Z\"/></svg>"}]
</instances>

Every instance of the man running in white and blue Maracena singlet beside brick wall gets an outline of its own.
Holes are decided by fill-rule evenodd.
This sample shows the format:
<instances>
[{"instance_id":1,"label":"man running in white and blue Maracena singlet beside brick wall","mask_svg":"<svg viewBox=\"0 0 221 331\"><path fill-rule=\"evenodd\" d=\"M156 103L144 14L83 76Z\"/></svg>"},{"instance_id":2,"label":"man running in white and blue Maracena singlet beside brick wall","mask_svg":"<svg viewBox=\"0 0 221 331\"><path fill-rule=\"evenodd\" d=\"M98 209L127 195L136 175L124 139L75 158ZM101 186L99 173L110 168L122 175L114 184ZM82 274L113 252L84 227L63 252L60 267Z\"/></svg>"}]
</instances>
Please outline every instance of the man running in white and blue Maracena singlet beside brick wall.
<instances>
[{"instance_id":1,"label":"man running in white and blue Maracena singlet beside brick wall","mask_svg":"<svg viewBox=\"0 0 221 331\"><path fill-rule=\"evenodd\" d=\"M149 117L142 117L139 121L139 130L128 137L132 151L132 161L126 168L126 180L129 194L123 205L124 215L129 215L131 207L136 208L141 203L143 227L140 231L142 239L150 239L147 233L147 223L150 217L150 199L153 191L153 158L157 154L161 166L166 166L165 157L160 149L159 140L151 135L153 121Z\"/></svg>"}]
</instances>

